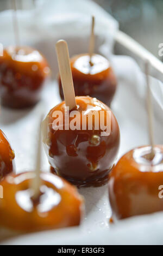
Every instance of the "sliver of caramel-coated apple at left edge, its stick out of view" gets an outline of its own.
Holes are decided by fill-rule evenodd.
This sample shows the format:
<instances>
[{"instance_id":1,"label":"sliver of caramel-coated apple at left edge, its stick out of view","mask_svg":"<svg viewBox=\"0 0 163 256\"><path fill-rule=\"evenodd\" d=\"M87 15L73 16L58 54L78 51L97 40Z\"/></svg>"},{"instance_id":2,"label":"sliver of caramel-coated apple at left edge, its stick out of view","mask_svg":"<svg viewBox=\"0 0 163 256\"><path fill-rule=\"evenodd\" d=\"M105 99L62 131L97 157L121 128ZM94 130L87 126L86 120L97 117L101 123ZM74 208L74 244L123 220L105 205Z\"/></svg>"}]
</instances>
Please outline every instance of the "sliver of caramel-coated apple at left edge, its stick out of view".
<instances>
[{"instance_id":1,"label":"sliver of caramel-coated apple at left edge, its stick out of view","mask_svg":"<svg viewBox=\"0 0 163 256\"><path fill-rule=\"evenodd\" d=\"M10 147L4 133L0 130L0 180L5 175L14 171L14 158L14 151Z\"/></svg>"}]
</instances>

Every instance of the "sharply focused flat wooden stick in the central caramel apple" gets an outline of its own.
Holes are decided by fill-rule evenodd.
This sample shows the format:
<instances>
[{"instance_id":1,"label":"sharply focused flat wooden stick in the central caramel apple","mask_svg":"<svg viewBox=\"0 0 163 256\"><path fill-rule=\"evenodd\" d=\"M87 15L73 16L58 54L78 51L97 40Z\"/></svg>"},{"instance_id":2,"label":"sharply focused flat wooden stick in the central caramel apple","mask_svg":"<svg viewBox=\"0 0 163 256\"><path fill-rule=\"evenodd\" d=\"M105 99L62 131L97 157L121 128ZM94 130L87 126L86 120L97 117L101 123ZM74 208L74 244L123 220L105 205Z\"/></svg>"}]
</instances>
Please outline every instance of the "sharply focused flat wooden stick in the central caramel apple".
<instances>
[{"instance_id":1,"label":"sharply focused flat wooden stick in the central caramel apple","mask_svg":"<svg viewBox=\"0 0 163 256\"><path fill-rule=\"evenodd\" d=\"M61 84L64 91L64 98L66 106L69 109L76 108L76 98L74 94L72 73L70 67L70 57L68 46L65 40L59 40L56 44L59 72L61 77Z\"/></svg>"}]
</instances>

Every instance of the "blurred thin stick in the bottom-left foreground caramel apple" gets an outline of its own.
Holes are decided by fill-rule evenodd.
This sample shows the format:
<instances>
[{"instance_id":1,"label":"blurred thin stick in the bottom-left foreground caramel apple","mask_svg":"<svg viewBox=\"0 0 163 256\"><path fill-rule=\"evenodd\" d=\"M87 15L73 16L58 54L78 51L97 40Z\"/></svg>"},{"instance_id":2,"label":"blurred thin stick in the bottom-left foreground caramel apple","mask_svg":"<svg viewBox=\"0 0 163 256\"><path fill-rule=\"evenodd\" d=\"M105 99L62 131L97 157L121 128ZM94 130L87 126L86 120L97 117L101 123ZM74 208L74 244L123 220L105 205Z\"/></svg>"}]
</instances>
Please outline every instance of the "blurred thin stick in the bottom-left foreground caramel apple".
<instances>
[{"instance_id":1,"label":"blurred thin stick in the bottom-left foreground caramel apple","mask_svg":"<svg viewBox=\"0 0 163 256\"><path fill-rule=\"evenodd\" d=\"M40 185L41 185L41 123L42 123L42 116L40 121L40 128L39 128L39 141L37 145L37 157L36 157L36 167L35 167L35 177L32 180L31 188L34 191L33 200L39 198L40 195Z\"/></svg>"}]
</instances>

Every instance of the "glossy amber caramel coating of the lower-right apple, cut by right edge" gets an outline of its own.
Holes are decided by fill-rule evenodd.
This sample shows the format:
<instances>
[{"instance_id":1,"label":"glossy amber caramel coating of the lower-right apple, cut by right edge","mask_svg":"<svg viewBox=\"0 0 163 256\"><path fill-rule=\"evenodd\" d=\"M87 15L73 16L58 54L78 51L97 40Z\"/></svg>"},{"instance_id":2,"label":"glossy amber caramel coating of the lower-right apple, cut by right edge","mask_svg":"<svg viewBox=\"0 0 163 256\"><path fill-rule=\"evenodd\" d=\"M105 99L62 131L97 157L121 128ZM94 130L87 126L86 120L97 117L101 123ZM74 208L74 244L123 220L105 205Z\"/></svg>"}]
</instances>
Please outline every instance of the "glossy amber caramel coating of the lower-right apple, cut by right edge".
<instances>
[{"instance_id":1,"label":"glossy amber caramel coating of the lower-right apple, cut by right edge","mask_svg":"<svg viewBox=\"0 0 163 256\"><path fill-rule=\"evenodd\" d=\"M134 148L110 172L109 199L114 219L163 210L159 186L163 185L163 146Z\"/></svg>"}]
</instances>

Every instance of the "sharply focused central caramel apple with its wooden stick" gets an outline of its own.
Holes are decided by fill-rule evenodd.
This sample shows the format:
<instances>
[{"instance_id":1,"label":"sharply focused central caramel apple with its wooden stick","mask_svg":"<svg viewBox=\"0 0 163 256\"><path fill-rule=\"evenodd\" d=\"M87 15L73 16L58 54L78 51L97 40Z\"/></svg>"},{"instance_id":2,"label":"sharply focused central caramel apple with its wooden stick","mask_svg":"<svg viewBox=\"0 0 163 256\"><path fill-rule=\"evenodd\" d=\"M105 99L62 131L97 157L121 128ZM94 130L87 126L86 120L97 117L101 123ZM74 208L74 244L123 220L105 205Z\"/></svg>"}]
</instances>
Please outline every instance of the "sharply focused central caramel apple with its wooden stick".
<instances>
[{"instance_id":1,"label":"sharply focused central caramel apple with its wooden stick","mask_svg":"<svg viewBox=\"0 0 163 256\"><path fill-rule=\"evenodd\" d=\"M75 97L66 41L56 44L65 101L43 122L43 143L51 170L78 187L102 186L115 163L120 144L117 120L104 103Z\"/></svg>"}]
</instances>

